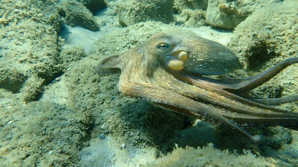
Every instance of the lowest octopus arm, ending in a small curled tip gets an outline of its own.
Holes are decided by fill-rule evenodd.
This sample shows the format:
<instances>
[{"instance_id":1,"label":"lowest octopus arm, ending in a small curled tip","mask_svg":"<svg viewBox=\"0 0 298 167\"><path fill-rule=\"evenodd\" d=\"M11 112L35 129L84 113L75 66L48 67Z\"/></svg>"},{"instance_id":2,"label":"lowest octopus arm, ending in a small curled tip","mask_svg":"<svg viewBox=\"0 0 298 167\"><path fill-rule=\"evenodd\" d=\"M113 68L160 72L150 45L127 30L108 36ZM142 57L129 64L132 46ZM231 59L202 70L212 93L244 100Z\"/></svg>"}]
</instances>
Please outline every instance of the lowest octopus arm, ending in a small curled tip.
<instances>
[{"instance_id":1,"label":"lowest octopus arm, ending in a small curled tip","mask_svg":"<svg viewBox=\"0 0 298 167\"><path fill-rule=\"evenodd\" d=\"M118 88L125 96L147 100L163 108L199 119L208 118L210 120L216 120L218 123L242 134L254 142L259 142L262 139L260 135L251 135L237 123L221 115L220 109L194 101L173 91L161 87L152 87L146 83L136 84L121 81L118 84Z\"/></svg>"}]
</instances>

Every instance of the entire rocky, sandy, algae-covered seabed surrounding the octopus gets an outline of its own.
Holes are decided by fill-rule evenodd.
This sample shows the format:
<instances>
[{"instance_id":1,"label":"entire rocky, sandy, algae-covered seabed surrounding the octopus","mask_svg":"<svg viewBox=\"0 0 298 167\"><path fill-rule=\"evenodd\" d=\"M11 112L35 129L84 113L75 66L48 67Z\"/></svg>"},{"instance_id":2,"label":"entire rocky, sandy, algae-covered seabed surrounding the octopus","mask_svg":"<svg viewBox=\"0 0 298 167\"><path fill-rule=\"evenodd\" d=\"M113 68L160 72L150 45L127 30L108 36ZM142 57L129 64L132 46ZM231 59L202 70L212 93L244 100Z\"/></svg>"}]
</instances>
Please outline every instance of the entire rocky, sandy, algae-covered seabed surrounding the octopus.
<instances>
[{"instance_id":1,"label":"entire rocky, sandy, algae-covered seabed surrounding the octopus","mask_svg":"<svg viewBox=\"0 0 298 167\"><path fill-rule=\"evenodd\" d=\"M118 92L94 68L157 32L230 48L253 76L298 56L297 0L1 0L0 167L298 167L298 131L253 143ZM256 88L298 95L298 65ZM276 106L298 112L298 103Z\"/></svg>"}]
</instances>

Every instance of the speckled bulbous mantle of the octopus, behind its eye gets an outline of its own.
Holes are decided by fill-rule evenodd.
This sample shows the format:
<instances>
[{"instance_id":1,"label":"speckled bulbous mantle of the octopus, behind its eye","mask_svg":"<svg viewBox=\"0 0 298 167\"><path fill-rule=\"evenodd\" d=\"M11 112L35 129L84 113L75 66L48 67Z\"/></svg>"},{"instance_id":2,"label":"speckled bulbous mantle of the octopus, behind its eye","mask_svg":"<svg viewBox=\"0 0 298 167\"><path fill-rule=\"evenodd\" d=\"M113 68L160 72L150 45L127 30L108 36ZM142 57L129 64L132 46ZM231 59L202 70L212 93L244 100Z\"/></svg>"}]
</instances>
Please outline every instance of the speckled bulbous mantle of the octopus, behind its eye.
<instances>
[{"instance_id":1,"label":"speckled bulbous mantle of the octopus, behind its eye","mask_svg":"<svg viewBox=\"0 0 298 167\"><path fill-rule=\"evenodd\" d=\"M203 75L222 75L242 68L237 56L217 42L181 35L166 35L157 39L156 43L162 41L169 45L168 52L159 53L162 56L180 51L188 53L188 58L184 62L184 71Z\"/></svg>"}]
</instances>

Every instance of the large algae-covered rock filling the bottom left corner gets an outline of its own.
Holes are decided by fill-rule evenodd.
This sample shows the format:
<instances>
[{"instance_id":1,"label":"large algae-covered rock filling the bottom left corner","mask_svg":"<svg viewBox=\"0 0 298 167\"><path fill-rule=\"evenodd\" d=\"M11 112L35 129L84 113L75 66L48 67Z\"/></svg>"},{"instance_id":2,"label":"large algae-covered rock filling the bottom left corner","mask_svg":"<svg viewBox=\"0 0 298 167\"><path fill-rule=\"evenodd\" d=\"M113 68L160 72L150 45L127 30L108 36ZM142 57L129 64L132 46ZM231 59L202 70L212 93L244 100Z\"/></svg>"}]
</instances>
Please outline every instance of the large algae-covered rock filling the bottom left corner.
<instances>
[{"instance_id":1,"label":"large algae-covered rock filling the bottom left corner","mask_svg":"<svg viewBox=\"0 0 298 167\"><path fill-rule=\"evenodd\" d=\"M13 102L0 112L0 166L76 166L88 118L50 101L23 106Z\"/></svg>"}]
</instances>

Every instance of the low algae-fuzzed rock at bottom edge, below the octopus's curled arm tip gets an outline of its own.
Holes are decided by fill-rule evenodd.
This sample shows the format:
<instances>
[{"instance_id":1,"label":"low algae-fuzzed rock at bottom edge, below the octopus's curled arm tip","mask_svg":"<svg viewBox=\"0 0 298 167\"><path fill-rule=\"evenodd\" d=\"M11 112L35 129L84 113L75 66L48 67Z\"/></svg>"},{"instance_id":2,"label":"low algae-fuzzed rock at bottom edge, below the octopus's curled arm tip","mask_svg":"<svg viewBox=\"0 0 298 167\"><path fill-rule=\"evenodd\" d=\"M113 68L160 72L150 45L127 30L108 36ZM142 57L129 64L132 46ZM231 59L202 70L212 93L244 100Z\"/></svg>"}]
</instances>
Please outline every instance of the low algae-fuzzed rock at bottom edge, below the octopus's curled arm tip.
<instances>
[{"instance_id":1,"label":"low algae-fuzzed rock at bottom edge, below the octopus's curled arm tip","mask_svg":"<svg viewBox=\"0 0 298 167\"><path fill-rule=\"evenodd\" d=\"M243 150L243 155L221 151L209 144L197 149L178 148L166 156L148 163L146 167L274 167L264 159L256 158L250 151Z\"/></svg>"}]
</instances>

